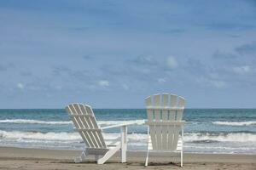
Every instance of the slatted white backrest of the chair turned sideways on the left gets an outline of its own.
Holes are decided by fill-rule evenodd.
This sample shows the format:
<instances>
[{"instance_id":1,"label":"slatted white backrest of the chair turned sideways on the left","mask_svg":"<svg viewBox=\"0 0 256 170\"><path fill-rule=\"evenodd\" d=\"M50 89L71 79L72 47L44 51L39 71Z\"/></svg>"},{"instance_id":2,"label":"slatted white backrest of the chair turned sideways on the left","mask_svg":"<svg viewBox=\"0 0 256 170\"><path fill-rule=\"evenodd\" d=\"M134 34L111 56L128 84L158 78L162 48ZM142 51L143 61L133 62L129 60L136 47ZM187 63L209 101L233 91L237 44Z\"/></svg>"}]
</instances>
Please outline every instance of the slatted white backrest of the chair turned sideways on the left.
<instances>
[{"instance_id":1,"label":"slatted white backrest of the chair turned sideways on the left","mask_svg":"<svg viewBox=\"0 0 256 170\"><path fill-rule=\"evenodd\" d=\"M107 148L102 136L102 129L98 127L90 105L70 104L67 105L66 111L87 148Z\"/></svg>"}]
</instances>

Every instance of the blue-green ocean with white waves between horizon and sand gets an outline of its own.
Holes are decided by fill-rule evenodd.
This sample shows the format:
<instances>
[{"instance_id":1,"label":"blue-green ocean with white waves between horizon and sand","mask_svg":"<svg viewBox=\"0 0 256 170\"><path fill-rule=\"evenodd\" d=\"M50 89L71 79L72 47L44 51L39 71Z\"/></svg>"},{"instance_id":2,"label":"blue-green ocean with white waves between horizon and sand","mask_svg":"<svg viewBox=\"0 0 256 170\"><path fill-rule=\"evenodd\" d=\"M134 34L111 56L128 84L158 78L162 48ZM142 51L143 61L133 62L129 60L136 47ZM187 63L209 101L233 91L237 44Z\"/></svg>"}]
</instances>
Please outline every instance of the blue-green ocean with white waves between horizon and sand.
<instances>
[{"instance_id":1,"label":"blue-green ocean with white waves between horizon and sand","mask_svg":"<svg viewBox=\"0 0 256 170\"><path fill-rule=\"evenodd\" d=\"M95 109L103 126L143 122L144 109ZM185 109L184 152L256 154L256 109ZM114 139L119 128L104 131ZM128 150L146 150L147 127L128 127ZM64 110L0 110L0 146L83 150Z\"/></svg>"}]
</instances>

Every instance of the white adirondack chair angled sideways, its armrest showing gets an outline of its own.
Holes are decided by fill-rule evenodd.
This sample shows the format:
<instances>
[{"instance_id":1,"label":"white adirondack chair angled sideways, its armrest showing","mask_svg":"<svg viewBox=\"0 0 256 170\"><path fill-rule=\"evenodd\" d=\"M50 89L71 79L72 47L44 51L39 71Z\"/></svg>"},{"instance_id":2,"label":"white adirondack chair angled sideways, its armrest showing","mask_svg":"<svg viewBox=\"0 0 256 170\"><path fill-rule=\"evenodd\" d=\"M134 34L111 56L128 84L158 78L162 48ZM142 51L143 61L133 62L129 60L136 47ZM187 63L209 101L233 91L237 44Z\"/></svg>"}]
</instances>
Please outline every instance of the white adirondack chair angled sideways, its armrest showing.
<instances>
[{"instance_id":1,"label":"white adirondack chair angled sideways, its armrest showing","mask_svg":"<svg viewBox=\"0 0 256 170\"><path fill-rule=\"evenodd\" d=\"M127 125L129 124L99 127L90 105L70 104L67 105L66 111L85 143L85 150L81 156L74 159L75 162L83 162L86 156L95 155L97 164L103 164L118 150L121 150L121 162L126 162ZM107 145L102 129L112 127L120 127L120 138L113 141L111 145Z\"/></svg>"}]
</instances>

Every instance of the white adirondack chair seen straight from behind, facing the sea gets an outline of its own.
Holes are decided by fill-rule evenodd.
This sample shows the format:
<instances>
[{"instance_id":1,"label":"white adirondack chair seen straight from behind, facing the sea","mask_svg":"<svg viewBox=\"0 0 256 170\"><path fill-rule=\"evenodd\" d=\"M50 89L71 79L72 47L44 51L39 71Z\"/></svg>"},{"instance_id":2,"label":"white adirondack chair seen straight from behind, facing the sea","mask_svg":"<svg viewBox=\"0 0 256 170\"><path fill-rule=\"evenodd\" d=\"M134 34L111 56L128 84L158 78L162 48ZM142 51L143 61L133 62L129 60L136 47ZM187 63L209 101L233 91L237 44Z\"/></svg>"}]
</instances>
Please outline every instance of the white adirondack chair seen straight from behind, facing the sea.
<instances>
[{"instance_id":1,"label":"white adirondack chair seen straight from behind, facing the sea","mask_svg":"<svg viewBox=\"0 0 256 170\"><path fill-rule=\"evenodd\" d=\"M148 121L148 151L179 152L183 167L183 109L185 99L174 94L155 94L145 99Z\"/></svg>"}]
</instances>

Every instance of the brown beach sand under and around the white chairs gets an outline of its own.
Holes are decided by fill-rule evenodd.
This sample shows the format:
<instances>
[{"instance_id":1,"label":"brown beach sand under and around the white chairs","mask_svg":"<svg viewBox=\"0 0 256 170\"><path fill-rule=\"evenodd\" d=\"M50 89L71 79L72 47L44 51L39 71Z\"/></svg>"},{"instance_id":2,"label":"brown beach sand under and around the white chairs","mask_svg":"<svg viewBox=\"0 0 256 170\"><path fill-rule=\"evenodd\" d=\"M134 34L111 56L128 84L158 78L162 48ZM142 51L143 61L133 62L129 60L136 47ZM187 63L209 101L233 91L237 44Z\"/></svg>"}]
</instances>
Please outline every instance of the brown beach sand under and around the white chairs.
<instances>
[{"instance_id":1,"label":"brown beach sand under and around the white chairs","mask_svg":"<svg viewBox=\"0 0 256 170\"><path fill-rule=\"evenodd\" d=\"M84 163L73 163L73 157L78 156L78 150L40 150L0 147L0 169L88 169L88 170L118 170L118 169L255 169L256 155L236 154L184 154L183 167L179 167L179 158L175 156L151 154L149 166L144 167L145 153L129 151L127 163L119 163L119 154L113 156L104 165L96 165L93 157Z\"/></svg>"}]
</instances>

